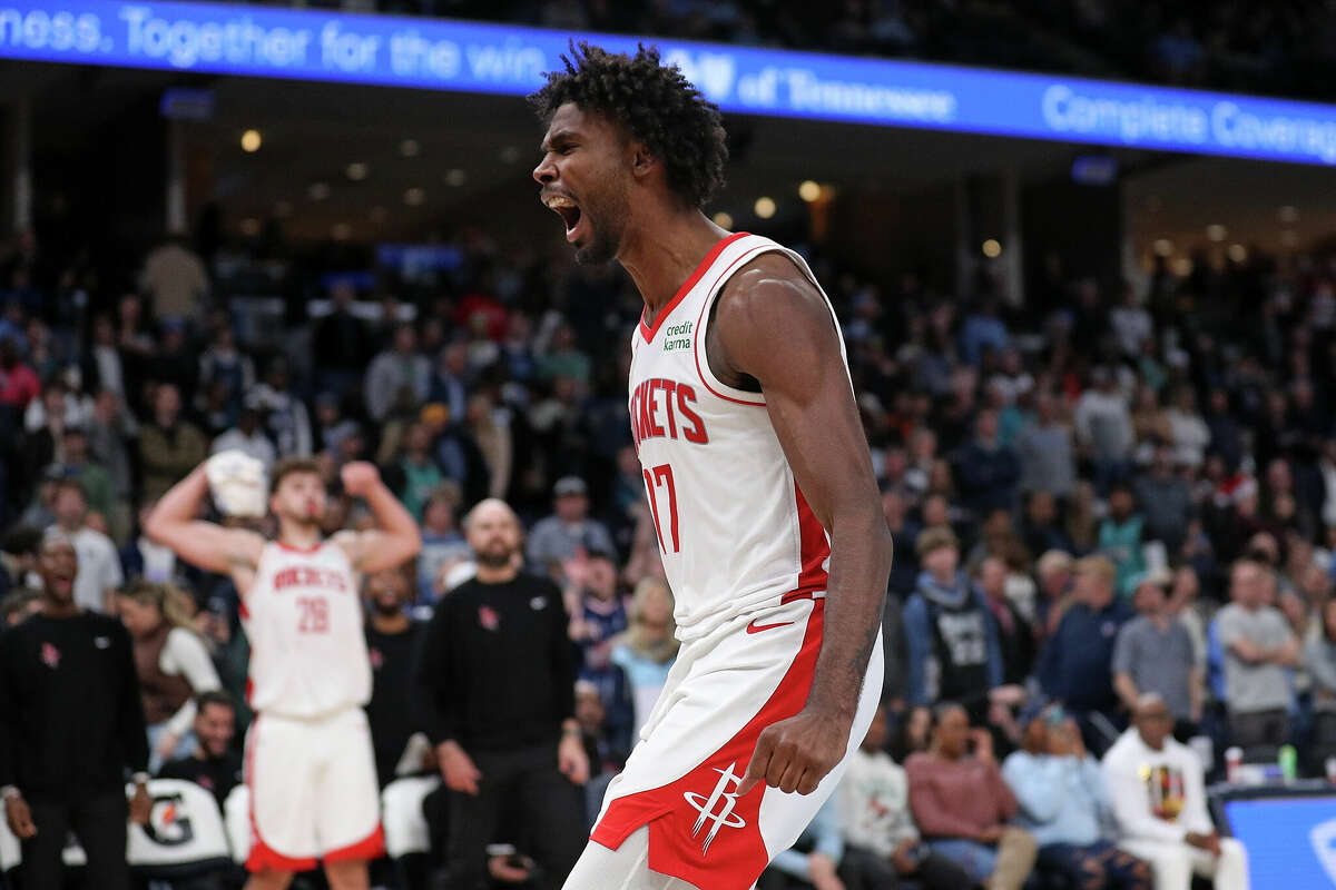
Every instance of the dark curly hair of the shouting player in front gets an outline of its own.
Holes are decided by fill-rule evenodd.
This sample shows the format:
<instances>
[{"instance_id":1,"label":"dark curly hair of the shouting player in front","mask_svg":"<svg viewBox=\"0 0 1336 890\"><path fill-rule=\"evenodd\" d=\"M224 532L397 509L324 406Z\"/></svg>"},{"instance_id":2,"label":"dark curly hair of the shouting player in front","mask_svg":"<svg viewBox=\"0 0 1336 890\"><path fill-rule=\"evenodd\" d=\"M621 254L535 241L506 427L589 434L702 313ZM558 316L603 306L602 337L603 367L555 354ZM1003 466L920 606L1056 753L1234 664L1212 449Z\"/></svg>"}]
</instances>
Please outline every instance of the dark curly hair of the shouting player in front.
<instances>
[{"instance_id":1,"label":"dark curly hair of the shouting player in front","mask_svg":"<svg viewBox=\"0 0 1336 890\"><path fill-rule=\"evenodd\" d=\"M573 101L620 124L664 164L668 187L691 207L704 207L724 184L728 147L719 108L677 65L664 65L659 49L641 45L628 56L581 41L561 61L565 71L548 72L546 85L529 96L541 120Z\"/></svg>"}]
</instances>

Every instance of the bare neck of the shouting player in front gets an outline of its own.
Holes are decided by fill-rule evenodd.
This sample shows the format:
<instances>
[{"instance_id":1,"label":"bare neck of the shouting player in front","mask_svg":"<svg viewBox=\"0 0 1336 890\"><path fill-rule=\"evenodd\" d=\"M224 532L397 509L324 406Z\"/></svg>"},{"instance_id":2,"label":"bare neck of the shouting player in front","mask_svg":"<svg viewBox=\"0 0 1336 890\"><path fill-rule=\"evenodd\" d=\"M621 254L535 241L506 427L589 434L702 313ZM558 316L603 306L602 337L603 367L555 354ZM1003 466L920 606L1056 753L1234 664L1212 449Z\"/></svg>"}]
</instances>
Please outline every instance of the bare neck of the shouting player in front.
<instances>
[{"instance_id":1,"label":"bare neck of the shouting player in front","mask_svg":"<svg viewBox=\"0 0 1336 890\"><path fill-rule=\"evenodd\" d=\"M700 211L663 213L652 226L627 235L617 260L645 300L645 319L653 323L673 295L696 271L709 250L728 232Z\"/></svg>"}]
</instances>

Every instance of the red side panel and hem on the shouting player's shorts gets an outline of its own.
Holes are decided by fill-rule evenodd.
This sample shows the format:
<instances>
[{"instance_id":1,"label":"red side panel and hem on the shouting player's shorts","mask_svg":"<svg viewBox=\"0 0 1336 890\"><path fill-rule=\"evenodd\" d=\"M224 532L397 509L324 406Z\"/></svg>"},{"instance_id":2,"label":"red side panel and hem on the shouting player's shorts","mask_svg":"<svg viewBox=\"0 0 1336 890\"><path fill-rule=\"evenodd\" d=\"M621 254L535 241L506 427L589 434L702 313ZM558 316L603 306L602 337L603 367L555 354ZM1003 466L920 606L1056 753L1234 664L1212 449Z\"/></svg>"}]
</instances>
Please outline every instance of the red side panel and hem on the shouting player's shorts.
<instances>
[{"instance_id":1,"label":"red side panel and hem on the shouting player's shorts","mask_svg":"<svg viewBox=\"0 0 1336 890\"><path fill-rule=\"evenodd\" d=\"M762 730L803 709L811 691L816 655L822 648L824 612L826 600L815 599L802 648L770 701L737 735L676 782L615 799L595 826L591 839L616 850L632 831L648 825L651 870L709 890L748 890L770 865L771 854L760 834L759 821L762 801L771 789L762 783L739 797L731 814L745 826L737 830L731 826L729 831L720 833L711 841L708 850L701 849L699 831L696 837L692 835L692 826L700 814L691 809L689 798L684 795L708 793L721 782L720 777L725 770L740 778L740 773L751 762Z\"/></svg>"}]
</instances>

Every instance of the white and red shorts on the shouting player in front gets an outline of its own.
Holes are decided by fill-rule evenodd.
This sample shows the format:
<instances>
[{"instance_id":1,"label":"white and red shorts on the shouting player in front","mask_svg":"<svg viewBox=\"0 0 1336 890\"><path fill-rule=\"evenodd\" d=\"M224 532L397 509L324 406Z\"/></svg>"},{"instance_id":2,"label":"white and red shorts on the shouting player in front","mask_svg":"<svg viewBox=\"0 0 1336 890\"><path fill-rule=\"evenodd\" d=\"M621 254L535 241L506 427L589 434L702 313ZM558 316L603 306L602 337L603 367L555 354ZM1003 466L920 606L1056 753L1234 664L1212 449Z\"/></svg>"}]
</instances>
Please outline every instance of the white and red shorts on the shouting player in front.
<instances>
[{"instance_id":1,"label":"white and red shorts on the shouting player in front","mask_svg":"<svg viewBox=\"0 0 1336 890\"><path fill-rule=\"evenodd\" d=\"M880 697L878 638L839 766L812 794L764 783L736 793L762 730L807 703L824 611L823 598L794 599L685 643L591 839L616 850L648 825L649 870L708 890L751 887L839 785Z\"/></svg>"}]
</instances>

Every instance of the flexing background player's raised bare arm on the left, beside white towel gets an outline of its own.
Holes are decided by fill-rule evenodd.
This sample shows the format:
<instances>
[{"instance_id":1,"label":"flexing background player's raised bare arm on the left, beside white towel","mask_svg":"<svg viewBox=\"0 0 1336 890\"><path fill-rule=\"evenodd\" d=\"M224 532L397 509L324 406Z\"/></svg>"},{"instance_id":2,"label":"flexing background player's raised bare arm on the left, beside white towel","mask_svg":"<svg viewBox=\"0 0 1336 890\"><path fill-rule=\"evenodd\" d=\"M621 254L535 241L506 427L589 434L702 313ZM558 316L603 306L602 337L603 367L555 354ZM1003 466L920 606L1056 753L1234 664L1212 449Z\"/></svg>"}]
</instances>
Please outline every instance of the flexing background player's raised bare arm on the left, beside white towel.
<instances>
[{"instance_id":1,"label":"flexing background player's raised bare arm on the left, beside white towel","mask_svg":"<svg viewBox=\"0 0 1336 890\"><path fill-rule=\"evenodd\" d=\"M265 539L247 528L224 528L196 519L207 494L208 476L204 464L199 464L162 496L144 523L144 534L191 566L231 575L236 590L244 595L255 576Z\"/></svg>"}]
</instances>

